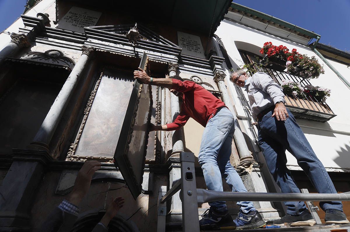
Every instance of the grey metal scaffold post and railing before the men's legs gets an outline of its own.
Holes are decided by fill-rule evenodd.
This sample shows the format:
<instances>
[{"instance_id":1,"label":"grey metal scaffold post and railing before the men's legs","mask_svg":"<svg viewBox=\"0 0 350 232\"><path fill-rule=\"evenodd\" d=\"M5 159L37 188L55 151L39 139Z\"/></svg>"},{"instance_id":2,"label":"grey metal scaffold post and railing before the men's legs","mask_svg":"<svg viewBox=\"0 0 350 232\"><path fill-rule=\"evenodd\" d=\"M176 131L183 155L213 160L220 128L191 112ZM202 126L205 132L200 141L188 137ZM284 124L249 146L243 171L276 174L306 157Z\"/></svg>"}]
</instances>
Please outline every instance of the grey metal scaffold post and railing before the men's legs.
<instances>
[{"instance_id":1,"label":"grey metal scaffold post and railing before the men's legs","mask_svg":"<svg viewBox=\"0 0 350 232\"><path fill-rule=\"evenodd\" d=\"M180 190L182 201L182 231L200 231L198 203L213 201L350 201L348 193L243 193L218 192L196 188L195 157L191 152L180 153L181 179L171 189L159 186L157 232L165 232L166 202ZM311 212L313 211L310 209ZM314 211L315 212L315 211ZM316 214L317 215L317 214ZM319 218L318 218L319 221ZM320 221L319 221L320 222ZM350 227L346 227L350 229ZM318 230L317 230L318 231ZM322 231L331 231L325 229Z\"/></svg>"}]
</instances>

